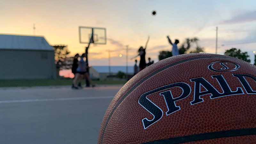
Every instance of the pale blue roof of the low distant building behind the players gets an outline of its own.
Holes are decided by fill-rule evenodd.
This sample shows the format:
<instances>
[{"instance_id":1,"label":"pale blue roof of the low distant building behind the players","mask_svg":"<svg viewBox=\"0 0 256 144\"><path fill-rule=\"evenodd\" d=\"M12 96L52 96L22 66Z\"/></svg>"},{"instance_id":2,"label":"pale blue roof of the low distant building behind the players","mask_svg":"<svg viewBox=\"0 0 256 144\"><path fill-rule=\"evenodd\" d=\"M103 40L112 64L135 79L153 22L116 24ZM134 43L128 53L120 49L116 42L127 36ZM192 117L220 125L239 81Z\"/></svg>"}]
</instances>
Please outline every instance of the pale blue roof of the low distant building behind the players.
<instances>
[{"instance_id":1,"label":"pale blue roof of the low distant building behind the players","mask_svg":"<svg viewBox=\"0 0 256 144\"><path fill-rule=\"evenodd\" d=\"M108 73L108 66L92 66L99 73ZM118 71L126 73L126 66L110 66L111 73L117 73ZM128 66L128 73L133 73L133 66Z\"/></svg>"}]
</instances>

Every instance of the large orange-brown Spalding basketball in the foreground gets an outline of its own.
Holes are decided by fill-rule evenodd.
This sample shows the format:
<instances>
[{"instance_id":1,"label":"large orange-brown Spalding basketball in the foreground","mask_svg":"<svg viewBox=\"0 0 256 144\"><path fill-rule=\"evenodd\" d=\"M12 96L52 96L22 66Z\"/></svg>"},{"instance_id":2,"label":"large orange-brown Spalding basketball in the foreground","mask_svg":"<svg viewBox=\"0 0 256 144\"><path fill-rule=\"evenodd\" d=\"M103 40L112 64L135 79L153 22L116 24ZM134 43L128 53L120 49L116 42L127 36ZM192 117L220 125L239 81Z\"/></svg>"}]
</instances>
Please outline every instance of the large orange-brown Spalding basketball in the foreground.
<instances>
[{"instance_id":1,"label":"large orange-brown Spalding basketball in the foreground","mask_svg":"<svg viewBox=\"0 0 256 144\"><path fill-rule=\"evenodd\" d=\"M256 143L256 66L194 53L132 77L103 117L98 144Z\"/></svg>"}]
</instances>

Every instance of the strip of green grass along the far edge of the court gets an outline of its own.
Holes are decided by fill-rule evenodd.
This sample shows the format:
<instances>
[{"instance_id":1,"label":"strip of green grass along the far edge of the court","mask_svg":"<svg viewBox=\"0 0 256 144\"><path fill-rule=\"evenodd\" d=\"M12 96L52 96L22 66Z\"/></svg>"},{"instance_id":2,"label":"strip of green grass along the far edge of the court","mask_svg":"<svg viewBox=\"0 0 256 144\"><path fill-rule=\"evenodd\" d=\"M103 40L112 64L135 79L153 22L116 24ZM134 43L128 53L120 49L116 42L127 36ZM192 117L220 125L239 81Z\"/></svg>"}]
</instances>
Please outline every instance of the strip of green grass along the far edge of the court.
<instances>
[{"instance_id":1,"label":"strip of green grass along the far edge of the court","mask_svg":"<svg viewBox=\"0 0 256 144\"><path fill-rule=\"evenodd\" d=\"M94 84L125 84L127 81L93 81ZM72 85L73 79L0 80L0 87ZM85 84L85 80L83 83Z\"/></svg>"}]
</instances>

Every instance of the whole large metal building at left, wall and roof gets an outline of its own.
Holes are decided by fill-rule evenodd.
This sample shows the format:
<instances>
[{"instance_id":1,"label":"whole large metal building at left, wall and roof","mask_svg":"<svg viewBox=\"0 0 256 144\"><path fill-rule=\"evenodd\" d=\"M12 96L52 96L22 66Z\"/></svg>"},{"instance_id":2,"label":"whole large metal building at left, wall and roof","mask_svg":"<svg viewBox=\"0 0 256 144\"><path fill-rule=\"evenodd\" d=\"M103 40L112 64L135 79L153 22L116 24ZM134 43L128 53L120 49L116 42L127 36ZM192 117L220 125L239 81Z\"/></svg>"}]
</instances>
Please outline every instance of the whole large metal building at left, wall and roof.
<instances>
[{"instance_id":1,"label":"whole large metal building at left, wall and roof","mask_svg":"<svg viewBox=\"0 0 256 144\"><path fill-rule=\"evenodd\" d=\"M43 36L0 34L0 79L56 78L54 50Z\"/></svg>"}]
</instances>

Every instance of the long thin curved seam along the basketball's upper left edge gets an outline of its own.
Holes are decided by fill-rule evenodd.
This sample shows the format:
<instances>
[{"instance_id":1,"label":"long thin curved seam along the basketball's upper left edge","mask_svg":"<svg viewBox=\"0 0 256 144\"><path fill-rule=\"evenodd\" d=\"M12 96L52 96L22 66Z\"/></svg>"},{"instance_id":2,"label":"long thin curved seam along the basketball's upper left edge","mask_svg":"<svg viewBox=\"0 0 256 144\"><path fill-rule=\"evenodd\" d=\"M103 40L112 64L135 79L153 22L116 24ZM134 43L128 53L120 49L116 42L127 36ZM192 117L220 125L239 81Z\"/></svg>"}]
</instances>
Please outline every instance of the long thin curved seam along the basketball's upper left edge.
<instances>
[{"instance_id":1,"label":"long thin curved seam along the basketball's upper left edge","mask_svg":"<svg viewBox=\"0 0 256 144\"><path fill-rule=\"evenodd\" d=\"M110 119L110 117L112 116L112 114L114 113L114 111L116 110L116 108L119 106L119 104L126 98L127 95L129 95L137 86L139 86L141 83L143 83L145 80L147 80L149 77L155 75L156 73L166 69L166 68L169 68L169 67L172 67L174 65L177 65L177 64L180 64L180 63L183 63L183 62L186 62L186 61L190 61L190 60L197 60L197 59L205 59L205 58L227 58L227 59L236 59L236 58L233 58L233 57L225 57L225 56L205 56L205 57L196 57L196 58L190 58L190 59L186 59L186 60L181 60L181 61L178 61L178 62L175 62L175 63L172 63L170 65L167 65L165 66L164 68L161 68L161 69L158 69L157 71L151 73L150 75L148 75L147 77L145 77L144 79L142 79L139 83L135 84L131 90L129 90L123 98L121 98L116 106L113 108L113 110L111 111L111 113L109 114L108 116L108 119L106 121L106 124L103 128L103 131L102 131L102 135L101 135L101 141L100 141L100 144L102 144L103 142L103 136L104 136L104 133L105 133L105 130L106 130L106 127L107 127L107 124L108 124L108 121ZM237 60L237 59L236 59Z\"/></svg>"}]
</instances>

